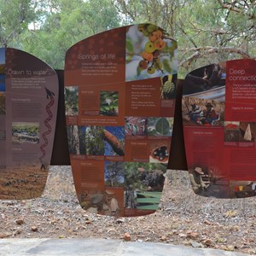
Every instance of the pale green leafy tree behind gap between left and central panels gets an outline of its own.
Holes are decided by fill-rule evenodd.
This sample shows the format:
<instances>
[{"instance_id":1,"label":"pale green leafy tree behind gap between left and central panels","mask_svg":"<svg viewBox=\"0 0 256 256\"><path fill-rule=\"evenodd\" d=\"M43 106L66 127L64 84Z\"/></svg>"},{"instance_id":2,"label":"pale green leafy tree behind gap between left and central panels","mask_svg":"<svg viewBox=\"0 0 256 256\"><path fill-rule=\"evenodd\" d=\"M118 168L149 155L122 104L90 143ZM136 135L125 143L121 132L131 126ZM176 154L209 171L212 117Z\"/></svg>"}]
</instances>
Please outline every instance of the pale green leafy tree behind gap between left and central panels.
<instances>
[{"instance_id":1,"label":"pale green leafy tree behind gap between left and central panels","mask_svg":"<svg viewBox=\"0 0 256 256\"><path fill-rule=\"evenodd\" d=\"M119 26L110 0L48 0L40 6L38 27L23 34L23 49L64 68L67 49L91 35Z\"/></svg>"}]
</instances>

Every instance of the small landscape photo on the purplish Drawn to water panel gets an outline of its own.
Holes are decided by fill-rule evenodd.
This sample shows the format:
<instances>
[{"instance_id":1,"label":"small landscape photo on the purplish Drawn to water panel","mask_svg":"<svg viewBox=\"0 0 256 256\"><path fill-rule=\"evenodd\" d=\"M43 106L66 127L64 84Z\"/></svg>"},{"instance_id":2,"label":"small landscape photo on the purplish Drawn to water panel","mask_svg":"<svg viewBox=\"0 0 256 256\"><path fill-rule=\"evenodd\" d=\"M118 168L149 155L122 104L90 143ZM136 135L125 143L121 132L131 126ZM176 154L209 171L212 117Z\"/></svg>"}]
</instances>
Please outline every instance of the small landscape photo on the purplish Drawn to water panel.
<instances>
[{"instance_id":1,"label":"small landscape photo on the purplish Drawn to water panel","mask_svg":"<svg viewBox=\"0 0 256 256\"><path fill-rule=\"evenodd\" d=\"M12 143L39 143L39 123L13 122Z\"/></svg>"}]
</instances>

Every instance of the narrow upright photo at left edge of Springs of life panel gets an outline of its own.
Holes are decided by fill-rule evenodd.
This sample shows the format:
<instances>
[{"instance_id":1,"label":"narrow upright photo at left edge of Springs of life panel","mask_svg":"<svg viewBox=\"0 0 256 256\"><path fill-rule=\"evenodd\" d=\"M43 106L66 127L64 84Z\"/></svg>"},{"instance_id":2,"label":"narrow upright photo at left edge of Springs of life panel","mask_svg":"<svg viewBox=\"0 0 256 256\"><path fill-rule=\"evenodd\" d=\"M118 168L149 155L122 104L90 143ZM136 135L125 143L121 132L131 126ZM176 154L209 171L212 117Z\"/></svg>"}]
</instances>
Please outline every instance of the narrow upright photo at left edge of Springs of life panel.
<instances>
[{"instance_id":1,"label":"narrow upright photo at left edge of Springs of life panel","mask_svg":"<svg viewBox=\"0 0 256 256\"><path fill-rule=\"evenodd\" d=\"M66 115L79 115L79 86L65 86L64 96Z\"/></svg>"}]
</instances>

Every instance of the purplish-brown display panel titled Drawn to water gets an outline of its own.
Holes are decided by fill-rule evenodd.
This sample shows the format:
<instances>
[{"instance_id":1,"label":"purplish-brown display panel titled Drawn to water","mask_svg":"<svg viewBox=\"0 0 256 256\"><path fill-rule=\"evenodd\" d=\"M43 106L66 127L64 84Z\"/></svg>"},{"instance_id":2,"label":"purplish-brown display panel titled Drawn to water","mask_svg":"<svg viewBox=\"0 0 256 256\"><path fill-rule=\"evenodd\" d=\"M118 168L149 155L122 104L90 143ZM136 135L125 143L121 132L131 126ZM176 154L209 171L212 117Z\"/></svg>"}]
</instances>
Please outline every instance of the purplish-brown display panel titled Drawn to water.
<instances>
[{"instance_id":1,"label":"purplish-brown display panel titled Drawn to water","mask_svg":"<svg viewBox=\"0 0 256 256\"><path fill-rule=\"evenodd\" d=\"M0 49L0 199L42 195L55 137L59 83L46 63Z\"/></svg>"}]
</instances>

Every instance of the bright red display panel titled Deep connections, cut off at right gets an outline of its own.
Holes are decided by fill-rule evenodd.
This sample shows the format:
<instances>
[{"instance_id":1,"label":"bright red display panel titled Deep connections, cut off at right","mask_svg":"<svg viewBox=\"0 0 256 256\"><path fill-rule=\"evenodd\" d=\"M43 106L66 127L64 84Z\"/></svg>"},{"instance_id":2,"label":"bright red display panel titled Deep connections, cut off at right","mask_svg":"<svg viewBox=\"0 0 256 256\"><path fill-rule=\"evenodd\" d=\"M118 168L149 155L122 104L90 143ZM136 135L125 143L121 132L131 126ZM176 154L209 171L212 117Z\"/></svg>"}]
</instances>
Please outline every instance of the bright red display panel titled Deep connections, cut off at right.
<instances>
[{"instance_id":1,"label":"bright red display panel titled Deep connections, cut off at right","mask_svg":"<svg viewBox=\"0 0 256 256\"><path fill-rule=\"evenodd\" d=\"M198 195L256 195L256 61L201 67L183 86L183 134Z\"/></svg>"}]
</instances>

